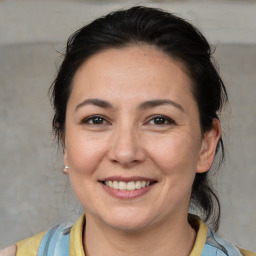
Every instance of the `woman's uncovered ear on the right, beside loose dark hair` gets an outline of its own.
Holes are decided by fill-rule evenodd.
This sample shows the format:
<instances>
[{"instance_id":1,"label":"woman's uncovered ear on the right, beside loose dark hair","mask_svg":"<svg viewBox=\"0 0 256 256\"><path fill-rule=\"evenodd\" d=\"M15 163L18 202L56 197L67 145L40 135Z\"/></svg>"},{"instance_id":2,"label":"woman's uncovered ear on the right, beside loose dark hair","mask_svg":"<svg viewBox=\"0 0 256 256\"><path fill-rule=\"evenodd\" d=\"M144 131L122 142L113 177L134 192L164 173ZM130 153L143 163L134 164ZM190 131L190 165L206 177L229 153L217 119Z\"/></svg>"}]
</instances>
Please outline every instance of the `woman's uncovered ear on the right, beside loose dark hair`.
<instances>
[{"instance_id":1,"label":"woman's uncovered ear on the right, beside loose dark hair","mask_svg":"<svg viewBox=\"0 0 256 256\"><path fill-rule=\"evenodd\" d=\"M208 132L206 132L203 137L200 155L197 163L197 173L203 173L210 170L220 137L220 121L214 118L212 121L212 128Z\"/></svg>"}]
</instances>

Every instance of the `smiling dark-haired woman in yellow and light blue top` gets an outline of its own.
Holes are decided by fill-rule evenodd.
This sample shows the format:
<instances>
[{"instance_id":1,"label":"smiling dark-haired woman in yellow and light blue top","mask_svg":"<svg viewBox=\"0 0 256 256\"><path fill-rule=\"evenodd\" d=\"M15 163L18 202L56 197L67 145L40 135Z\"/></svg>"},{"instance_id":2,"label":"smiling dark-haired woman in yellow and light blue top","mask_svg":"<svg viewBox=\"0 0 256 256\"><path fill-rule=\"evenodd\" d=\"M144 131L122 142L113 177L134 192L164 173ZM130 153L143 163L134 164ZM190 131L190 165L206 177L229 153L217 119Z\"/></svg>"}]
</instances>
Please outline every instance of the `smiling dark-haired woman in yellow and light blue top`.
<instances>
[{"instance_id":1,"label":"smiling dark-haired woman in yellow and light blue top","mask_svg":"<svg viewBox=\"0 0 256 256\"><path fill-rule=\"evenodd\" d=\"M51 93L85 216L6 255L256 255L215 234L208 173L224 158L227 94L195 27L146 7L99 18L68 40Z\"/></svg>"}]
</instances>

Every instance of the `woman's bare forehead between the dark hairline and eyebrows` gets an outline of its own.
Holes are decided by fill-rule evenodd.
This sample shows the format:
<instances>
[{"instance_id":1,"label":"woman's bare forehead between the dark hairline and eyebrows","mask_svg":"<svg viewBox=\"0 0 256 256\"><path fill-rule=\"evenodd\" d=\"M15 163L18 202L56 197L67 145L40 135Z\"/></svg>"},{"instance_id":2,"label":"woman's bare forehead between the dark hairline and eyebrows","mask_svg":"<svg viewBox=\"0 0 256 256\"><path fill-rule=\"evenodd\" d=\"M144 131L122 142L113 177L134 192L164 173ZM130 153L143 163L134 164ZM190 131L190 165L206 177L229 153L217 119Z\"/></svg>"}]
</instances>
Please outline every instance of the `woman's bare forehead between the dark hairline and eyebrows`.
<instances>
[{"instance_id":1,"label":"woman's bare forehead between the dark hairline and eyebrows","mask_svg":"<svg viewBox=\"0 0 256 256\"><path fill-rule=\"evenodd\" d=\"M153 46L107 49L87 59L76 72L71 94L78 97L192 97L183 64ZM71 95L72 96L72 95ZM147 100L147 99L146 99Z\"/></svg>"}]
</instances>

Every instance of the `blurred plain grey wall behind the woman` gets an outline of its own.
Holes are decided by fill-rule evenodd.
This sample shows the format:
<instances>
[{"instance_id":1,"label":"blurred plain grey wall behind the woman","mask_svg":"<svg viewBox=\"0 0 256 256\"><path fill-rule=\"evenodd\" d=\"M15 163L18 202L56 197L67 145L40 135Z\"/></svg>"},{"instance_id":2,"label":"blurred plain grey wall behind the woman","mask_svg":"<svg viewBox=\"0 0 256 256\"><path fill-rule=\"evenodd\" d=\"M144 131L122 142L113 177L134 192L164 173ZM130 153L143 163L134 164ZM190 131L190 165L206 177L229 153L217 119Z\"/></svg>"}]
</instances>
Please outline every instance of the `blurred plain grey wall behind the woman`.
<instances>
[{"instance_id":1,"label":"blurred plain grey wall behind the woman","mask_svg":"<svg viewBox=\"0 0 256 256\"><path fill-rule=\"evenodd\" d=\"M51 134L56 50L93 18L136 3L179 13L217 46L230 95L222 117L227 161L215 177L220 234L256 250L256 3L221 0L0 1L0 247L80 214Z\"/></svg>"}]
</instances>

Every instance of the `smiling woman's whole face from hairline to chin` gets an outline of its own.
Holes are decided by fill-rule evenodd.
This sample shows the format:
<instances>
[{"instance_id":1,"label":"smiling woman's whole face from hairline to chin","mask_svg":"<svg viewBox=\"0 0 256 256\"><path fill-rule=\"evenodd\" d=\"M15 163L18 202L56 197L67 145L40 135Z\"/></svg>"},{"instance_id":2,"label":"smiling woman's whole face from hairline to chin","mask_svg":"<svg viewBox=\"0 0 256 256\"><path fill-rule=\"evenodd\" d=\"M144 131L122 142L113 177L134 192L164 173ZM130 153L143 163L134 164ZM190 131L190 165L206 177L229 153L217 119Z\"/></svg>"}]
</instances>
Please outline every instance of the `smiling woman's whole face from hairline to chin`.
<instances>
[{"instance_id":1,"label":"smiling woman's whole face from hairline to chin","mask_svg":"<svg viewBox=\"0 0 256 256\"><path fill-rule=\"evenodd\" d=\"M109 49L72 86L64 162L87 221L139 230L187 216L213 157L182 65L150 46Z\"/></svg>"}]
</instances>

